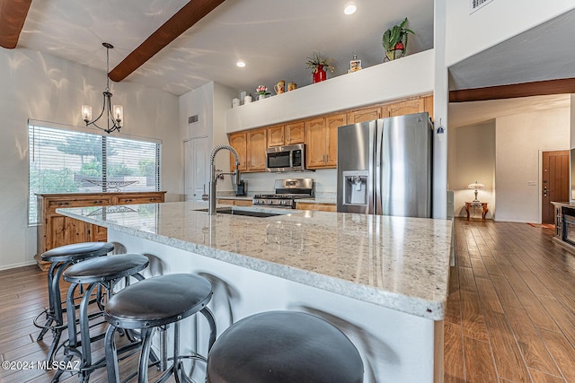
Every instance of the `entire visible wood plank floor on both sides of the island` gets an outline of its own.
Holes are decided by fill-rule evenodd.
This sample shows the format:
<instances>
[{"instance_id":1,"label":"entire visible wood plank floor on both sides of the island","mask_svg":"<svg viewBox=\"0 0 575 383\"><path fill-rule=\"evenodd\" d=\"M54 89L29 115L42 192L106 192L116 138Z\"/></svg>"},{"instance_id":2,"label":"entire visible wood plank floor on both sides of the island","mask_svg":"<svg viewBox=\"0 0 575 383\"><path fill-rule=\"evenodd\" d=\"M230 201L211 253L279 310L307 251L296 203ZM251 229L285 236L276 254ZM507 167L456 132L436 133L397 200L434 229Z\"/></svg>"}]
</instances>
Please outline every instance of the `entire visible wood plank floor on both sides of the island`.
<instances>
[{"instance_id":1,"label":"entire visible wood plank floor on both sides of the island","mask_svg":"<svg viewBox=\"0 0 575 383\"><path fill-rule=\"evenodd\" d=\"M445 381L575 382L575 256L552 241L552 230L526 223L456 219L455 227ZM42 360L50 336L37 343L32 318L47 305L46 274L36 266L0 272L0 302L0 359ZM101 344L94 348L102 354ZM52 375L0 369L0 382ZM90 381L105 382L103 371Z\"/></svg>"}]
</instances>

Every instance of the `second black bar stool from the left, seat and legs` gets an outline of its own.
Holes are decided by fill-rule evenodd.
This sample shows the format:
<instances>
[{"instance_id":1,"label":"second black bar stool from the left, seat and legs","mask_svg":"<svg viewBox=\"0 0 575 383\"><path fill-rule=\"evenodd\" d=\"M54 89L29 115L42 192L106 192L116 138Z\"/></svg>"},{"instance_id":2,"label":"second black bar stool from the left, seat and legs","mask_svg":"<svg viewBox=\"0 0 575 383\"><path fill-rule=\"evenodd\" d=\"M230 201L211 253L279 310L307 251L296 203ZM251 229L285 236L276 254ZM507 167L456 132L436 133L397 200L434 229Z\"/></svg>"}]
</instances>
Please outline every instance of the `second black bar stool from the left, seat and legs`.
<instances>
[{"instance_id":1,"label":"second black bar stool from the left, seat and legs","mask_svg":"<svg viewBox=\"0 0 575 383\"><path fill-rule=\"evenodd\" d=\"M107 300L110 300L114 286L119 282L119 280L124 279L126 281L126 285L129 285L129 277L134 277L138 281L142 281L144 277L139 274L139 272L144 270L149 263L150 261L148 257L141 254L119 254L110 257L87 259L78 264L69 266L64 272L63 279L66 282L72 283L70 284L66 295L68 344L66 344L64 352L66 355L65 361L67 365L67 362L71 361L74 357L79 358L78 377L80 381L87 382L93 370L105 365L104 358L100 361L92 361L91 344L92 342L102 339L104 334L102 332L101 335L91 337L90 320L102 316L105 305L103 301L98 300L98 306L101 311L88 315L88 306L94 290L102 287L106 292ZM78 340L76 326L71 324L76 323L75 296L76 290L80 285L84 285L85 290L78 310L77 324L80 333L80 339ZM103 300L103 295L98 295L101 296ZM102 323L105 323L105 321L100 324ZM139 344L134 342L133 344L130 344L129 349L134 349L137 346L139 346ZM57 371L57 374L54 376L52 381L57 382L63 372L64 370Z\"/></svg>"}]
</instances>

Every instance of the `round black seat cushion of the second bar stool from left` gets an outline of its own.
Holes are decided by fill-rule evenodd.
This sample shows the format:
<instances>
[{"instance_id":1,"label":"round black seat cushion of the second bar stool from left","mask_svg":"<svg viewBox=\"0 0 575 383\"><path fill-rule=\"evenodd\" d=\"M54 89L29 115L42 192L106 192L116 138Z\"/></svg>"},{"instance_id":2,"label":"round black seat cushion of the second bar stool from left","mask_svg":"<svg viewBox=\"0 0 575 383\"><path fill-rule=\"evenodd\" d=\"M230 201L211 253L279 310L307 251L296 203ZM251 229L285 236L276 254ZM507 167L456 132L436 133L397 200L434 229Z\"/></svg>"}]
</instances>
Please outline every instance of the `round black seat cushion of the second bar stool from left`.
<instances>
[{"instance_id":1,"label":"round black seat cushion of the second bar stool from left","mask_svg":"<svg viewBox=\"0 0 575 383\"><path fill-rule=\"evenodd\" d=\"M149 263L148 257L142 254L96 257L68 267L64 272L64 280L69 283L110 281L136 274Z\"/></svg>"}]
</instances>

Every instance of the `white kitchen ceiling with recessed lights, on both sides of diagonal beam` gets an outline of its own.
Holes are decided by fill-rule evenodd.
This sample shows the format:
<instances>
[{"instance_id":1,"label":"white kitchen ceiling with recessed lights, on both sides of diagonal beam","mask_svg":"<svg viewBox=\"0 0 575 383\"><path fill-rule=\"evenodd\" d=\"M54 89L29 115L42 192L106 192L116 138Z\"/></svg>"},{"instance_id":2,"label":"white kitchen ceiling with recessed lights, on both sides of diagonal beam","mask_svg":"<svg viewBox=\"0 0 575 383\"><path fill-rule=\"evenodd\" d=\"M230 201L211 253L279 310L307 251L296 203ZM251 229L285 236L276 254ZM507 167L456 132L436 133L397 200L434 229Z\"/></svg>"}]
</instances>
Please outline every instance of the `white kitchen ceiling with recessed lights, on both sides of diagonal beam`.
<instances>
[{"instance_id":1,"label":"white kitchen ceiling with recessed lights, on both sides of diagonal beam","mask_svg":"<svg viewBox=\"0 0 575 383\"><path fill-rule=\"evenodd\" d=\"M193 0L192 0L193 1ZM18 47L31 48L105 71L102 42L115 46L111 69L137 48L185 0L33 1ZM408 53L433 48L433 1L226 0L124 81L181 95L215 81L236 90L270 90L279 80L312 82L306 57L319 51L345 74L354 54L364 67L384 57L383 32L408 17L416 35ZM238 68L238 59L246 62Z\"/></svg>"}]
</instances>

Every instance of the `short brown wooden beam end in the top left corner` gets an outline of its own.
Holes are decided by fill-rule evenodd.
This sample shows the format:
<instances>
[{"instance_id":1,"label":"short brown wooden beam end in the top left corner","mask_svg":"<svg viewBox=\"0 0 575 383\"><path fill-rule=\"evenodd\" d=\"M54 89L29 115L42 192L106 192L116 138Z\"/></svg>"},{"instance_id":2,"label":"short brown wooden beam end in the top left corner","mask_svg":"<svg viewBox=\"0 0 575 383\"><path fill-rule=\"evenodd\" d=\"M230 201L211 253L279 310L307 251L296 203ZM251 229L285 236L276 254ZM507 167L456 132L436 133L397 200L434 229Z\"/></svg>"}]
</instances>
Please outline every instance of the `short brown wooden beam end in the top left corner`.
<instances>
[{"instance_id":1,"label":"short brown wooden beam end in the top left corner","mask_svg":"<svg viewBox=\"0 0 575 383\"><path fill-rule=\"evenodd\" d=\"M32 0L0 0L0 47L16 48L31 3Z\"/></svg>"}]
</instances>

